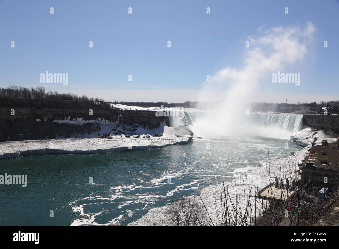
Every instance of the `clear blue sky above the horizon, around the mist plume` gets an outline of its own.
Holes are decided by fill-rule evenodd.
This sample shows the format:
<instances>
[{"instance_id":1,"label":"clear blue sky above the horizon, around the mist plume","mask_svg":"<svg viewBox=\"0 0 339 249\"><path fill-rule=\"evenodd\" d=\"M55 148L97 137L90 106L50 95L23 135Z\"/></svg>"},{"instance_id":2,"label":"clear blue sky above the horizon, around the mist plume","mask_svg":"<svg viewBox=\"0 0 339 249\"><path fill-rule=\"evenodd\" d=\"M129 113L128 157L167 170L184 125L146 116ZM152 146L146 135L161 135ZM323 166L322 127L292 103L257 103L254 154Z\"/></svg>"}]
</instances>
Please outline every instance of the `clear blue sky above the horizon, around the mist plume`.
<instances>
[{"instance_id":1,"label":"clear blue sky above the horizon, around the mist plume","mask_svg":"<svg viewBox=\"0 0 339 249\"><path fill-rule=\"evenodd\" d=\"M270 75L261 81L264 91L279 93L277 102L339 94L338 1L0 0L0 87L43 85L107 100L195 100L206 75L241 67L249 36L307 21L317 28L308 52L286 69L301 73L300 86L274 84ZM45 71L67 73L68 85L40 83Z\"/></svg>"}]
</instances>

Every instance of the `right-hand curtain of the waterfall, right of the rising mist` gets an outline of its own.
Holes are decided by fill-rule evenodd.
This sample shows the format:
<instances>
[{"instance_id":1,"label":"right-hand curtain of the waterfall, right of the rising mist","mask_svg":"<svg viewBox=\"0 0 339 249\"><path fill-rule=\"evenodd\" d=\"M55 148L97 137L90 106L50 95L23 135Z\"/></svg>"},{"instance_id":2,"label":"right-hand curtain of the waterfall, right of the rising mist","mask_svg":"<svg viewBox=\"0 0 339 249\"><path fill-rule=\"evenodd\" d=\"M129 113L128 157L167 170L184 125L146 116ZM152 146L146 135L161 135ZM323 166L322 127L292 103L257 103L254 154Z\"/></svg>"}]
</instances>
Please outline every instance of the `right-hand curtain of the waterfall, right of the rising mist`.
<instances>
[{"instance_id":1,"label":"right-hand curtain of the waterfall, right of the rising mist","mask_svg":"<svg viewBox=\"0 0 339 249\"><path fill-rule=\"evenodd\" d=\"M302 117L300 114L250 112L251 123L290 132L303 128Z\"/></svg>"}]
</instances>

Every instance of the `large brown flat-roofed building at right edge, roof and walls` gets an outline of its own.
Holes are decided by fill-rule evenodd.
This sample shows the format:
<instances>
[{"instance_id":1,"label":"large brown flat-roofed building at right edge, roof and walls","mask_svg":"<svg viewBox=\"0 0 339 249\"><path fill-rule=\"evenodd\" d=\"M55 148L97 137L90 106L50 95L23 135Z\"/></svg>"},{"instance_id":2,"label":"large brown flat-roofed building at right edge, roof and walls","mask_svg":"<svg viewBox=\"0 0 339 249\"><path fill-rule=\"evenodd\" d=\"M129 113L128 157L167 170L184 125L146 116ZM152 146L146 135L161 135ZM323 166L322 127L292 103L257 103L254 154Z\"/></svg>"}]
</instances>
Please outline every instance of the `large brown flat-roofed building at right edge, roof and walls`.
<instances>
[{"instance_id":1,"label":"large brown flat-roofed building at right edge, roof and walls","mask_svg":"<svg viewBox=\"0 0 339 249\"><path fill-rule=\"evenodd\" d=\"M304 186L330 187L339 182L339 140L315 138L301 170Z\"/></svg>"}]
</instances>

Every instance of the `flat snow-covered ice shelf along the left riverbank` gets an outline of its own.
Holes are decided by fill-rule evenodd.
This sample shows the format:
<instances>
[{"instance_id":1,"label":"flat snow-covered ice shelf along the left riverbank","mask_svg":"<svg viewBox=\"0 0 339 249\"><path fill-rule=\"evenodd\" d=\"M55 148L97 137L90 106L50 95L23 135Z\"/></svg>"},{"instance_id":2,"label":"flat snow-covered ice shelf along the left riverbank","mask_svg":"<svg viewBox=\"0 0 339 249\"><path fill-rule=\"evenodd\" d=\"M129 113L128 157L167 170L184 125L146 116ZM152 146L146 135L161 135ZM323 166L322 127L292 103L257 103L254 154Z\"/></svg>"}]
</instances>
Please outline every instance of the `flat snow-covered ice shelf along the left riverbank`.
<instances>
[{"instance_id":1,"label":"flat snow-covered ice shelf along the left riverbank","mask_svg":"<svg viewBox=\"0 0 339 249\"><path fill-rule=\"evenodd\" d=\"M92 154L125 150L161 148L168 145L187 144L191 136L125 138L112 136L111 139L65 138L28 140L0 143L0 159L16 158L23 155L43 154Z\"/></svg>"}]
</instances>

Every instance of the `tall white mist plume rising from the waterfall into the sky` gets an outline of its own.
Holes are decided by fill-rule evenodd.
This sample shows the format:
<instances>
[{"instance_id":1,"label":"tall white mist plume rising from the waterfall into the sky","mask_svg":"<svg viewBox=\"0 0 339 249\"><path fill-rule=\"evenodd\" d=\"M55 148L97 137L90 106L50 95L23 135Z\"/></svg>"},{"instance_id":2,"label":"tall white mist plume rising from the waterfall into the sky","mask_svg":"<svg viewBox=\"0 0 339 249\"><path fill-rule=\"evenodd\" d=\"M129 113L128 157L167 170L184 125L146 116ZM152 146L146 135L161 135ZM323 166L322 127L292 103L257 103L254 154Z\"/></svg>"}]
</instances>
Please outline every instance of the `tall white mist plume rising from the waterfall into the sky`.
<instances>
[{"instance_id":1,"label":"tall white mist plume rising from the waterfall into the sky","mask_svg":"<svg viewBox=\"0 0 339 249\"><path fill-rule=\"evenodd\" d=\"M204 82L200 100L215 100L215 93L224 91L221 105L213 106L203 119L194 122L194 131L205 138L220 135L253 134L244 126L249 121L250 102L260 95L265 84L261 80L272 72L282 71L288 64L301 61L307 53L306 44L315 32L312 22L304 29L299 27L275 27L265 35L251 38L251 48L246 49L243 66L219 70L210 82ZM295 86L298 87L298 86ZM247 131L247 132L246 132ZM285 135L284 135L285 136Z\"/></svg>"}]
</instances>

